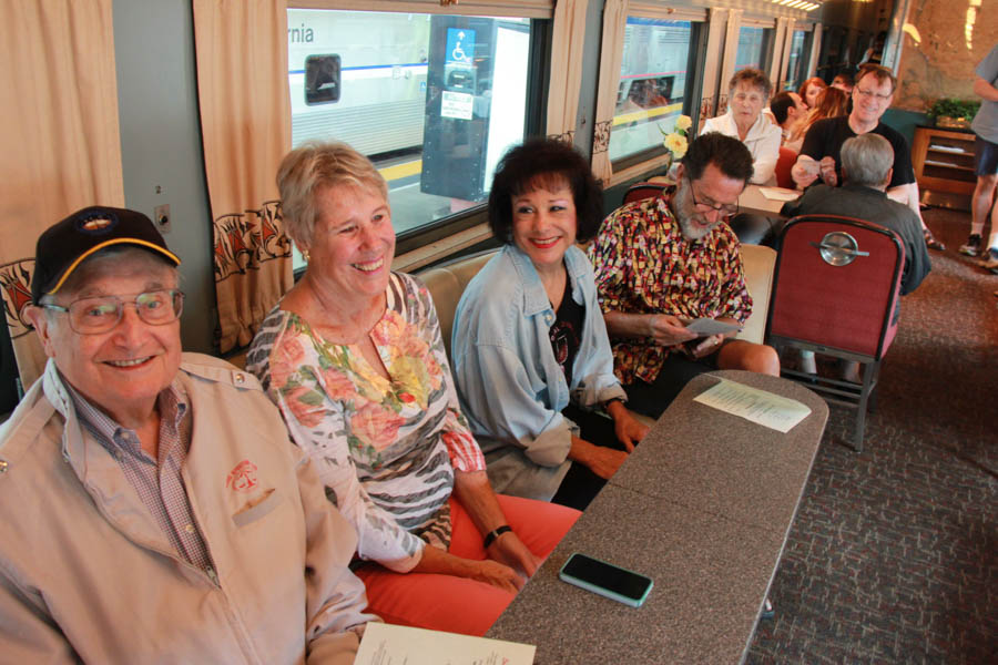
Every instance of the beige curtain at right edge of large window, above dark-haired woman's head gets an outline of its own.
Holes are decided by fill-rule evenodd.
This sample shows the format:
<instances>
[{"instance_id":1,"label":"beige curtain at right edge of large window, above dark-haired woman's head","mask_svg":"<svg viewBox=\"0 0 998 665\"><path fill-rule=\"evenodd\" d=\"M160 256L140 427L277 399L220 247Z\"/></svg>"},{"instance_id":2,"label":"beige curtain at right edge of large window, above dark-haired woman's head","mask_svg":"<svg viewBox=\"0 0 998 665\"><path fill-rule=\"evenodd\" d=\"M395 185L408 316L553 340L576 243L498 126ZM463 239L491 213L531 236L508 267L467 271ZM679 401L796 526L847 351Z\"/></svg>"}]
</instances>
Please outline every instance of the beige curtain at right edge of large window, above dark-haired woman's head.
<instances>
[{"instance_id":1,"label":"beige curtain at right edge of large window, above dark-haired woman's head","mask_svg":"<svg viewBox=\"0 0 998 665\"><path fill-rule=\"evenodd\" d=\"M559 0L554 8L554 40L548 88L548 135L571 143L579 115L579 89L582 85L582 42L585 39L587 0Z\"/></svg>"}]
</instances>

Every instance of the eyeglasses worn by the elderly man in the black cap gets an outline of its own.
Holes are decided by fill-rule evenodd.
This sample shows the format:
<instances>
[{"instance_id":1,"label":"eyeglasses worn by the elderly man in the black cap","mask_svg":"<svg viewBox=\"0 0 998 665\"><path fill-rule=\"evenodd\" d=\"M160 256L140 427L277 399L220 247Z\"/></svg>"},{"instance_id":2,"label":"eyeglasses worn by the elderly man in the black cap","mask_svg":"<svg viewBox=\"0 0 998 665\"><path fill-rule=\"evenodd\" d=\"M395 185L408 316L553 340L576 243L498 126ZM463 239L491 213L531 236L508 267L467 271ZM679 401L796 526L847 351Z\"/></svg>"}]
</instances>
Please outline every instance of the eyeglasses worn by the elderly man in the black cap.
<instances>
[{"instance_id":1,"label":"eyeglasses worn by the elderly man in the black cap","mask_svg":"<svg viewBox=\"0 0 998 665\"><path fill-rule=\"evenodd\" d=\"M80 298L69 304L43 304L41 307L69 314L70 327L81 335L106 332L121 320L124 306L134 305L139 318L151 326L165 326L175 321L184 309L184 294L175 288L146 291L134 301L122 301L118 296Z\"/></svg>"}]
</instances>

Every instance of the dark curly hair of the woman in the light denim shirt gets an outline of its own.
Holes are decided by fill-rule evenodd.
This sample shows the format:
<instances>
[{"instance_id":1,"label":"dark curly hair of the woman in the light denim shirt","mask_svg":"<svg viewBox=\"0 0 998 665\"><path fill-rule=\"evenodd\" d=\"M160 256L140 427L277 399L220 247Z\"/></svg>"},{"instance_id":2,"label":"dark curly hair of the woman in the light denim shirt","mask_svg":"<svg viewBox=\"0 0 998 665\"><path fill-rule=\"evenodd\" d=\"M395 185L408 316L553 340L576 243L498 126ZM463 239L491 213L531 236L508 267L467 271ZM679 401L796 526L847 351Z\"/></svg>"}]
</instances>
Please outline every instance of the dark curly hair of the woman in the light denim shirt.
<instances>
[{"instance_id":1,"label":"dark curly hair of the woman in the light denim shirt","mask_svg":"<svg viewBox=\"0 0 998 665\"><path fill-rule=\"evenodd\" d=\"M489 227L512 243L512 198L537 186L568 183L576 204L576 239L591 241L603 221L603 188L589 162L574 147L551 139L532 139L511 149L496 167L489 193Z\"/></svg>"}]
</instances>

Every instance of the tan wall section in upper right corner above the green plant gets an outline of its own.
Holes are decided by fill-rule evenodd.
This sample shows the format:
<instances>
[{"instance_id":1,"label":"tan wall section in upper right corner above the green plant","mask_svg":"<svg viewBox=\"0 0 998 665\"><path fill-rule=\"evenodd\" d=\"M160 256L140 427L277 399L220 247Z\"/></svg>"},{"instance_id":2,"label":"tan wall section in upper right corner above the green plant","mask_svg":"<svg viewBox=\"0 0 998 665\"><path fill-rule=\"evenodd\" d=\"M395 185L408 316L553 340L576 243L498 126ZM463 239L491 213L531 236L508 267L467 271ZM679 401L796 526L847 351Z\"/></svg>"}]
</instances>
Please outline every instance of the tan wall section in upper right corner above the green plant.
<instances>
[{"instance_id":1,"label":"tan wall section in upper right corner above the green plant","mask_svg":"<svg viewBox=\"0 0 998 665\"><path fill-rule=\"evenodd\" d=\"M912 0L907 23L894 105L925 111L944 96L976 99L974 68L998 43L998 0Z\"/></svg>"}]
</instances>

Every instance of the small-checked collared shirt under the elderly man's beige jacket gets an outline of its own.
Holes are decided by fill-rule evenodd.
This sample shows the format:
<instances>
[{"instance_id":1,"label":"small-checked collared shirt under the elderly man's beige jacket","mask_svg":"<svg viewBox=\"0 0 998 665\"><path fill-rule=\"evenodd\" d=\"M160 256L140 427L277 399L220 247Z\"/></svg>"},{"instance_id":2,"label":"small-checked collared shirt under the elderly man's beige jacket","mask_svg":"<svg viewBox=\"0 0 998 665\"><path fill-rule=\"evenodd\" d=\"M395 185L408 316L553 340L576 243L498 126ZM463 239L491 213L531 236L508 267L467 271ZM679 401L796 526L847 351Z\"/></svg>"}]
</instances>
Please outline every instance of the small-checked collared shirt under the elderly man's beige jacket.
<instances>
[{"instance_id":1,"label":"small-checked collared shirt under the elderly man's beige jacket","mask_svg":"<svg viewBox=\"0 0 998 665\"><path fill-rule=\"evenodd\" d=\"M142 450L134 430L121 427L64 379L62 385L72 397L80 422L118 460L129 483L135 488L142 503L176 552L189 563L214 576L212 559L194 521L181 477L191 447L191 415L187 411L187 396L180 381L174 381L156 398L160 412L156 460Z\"/></svg>"}]
</instances>

